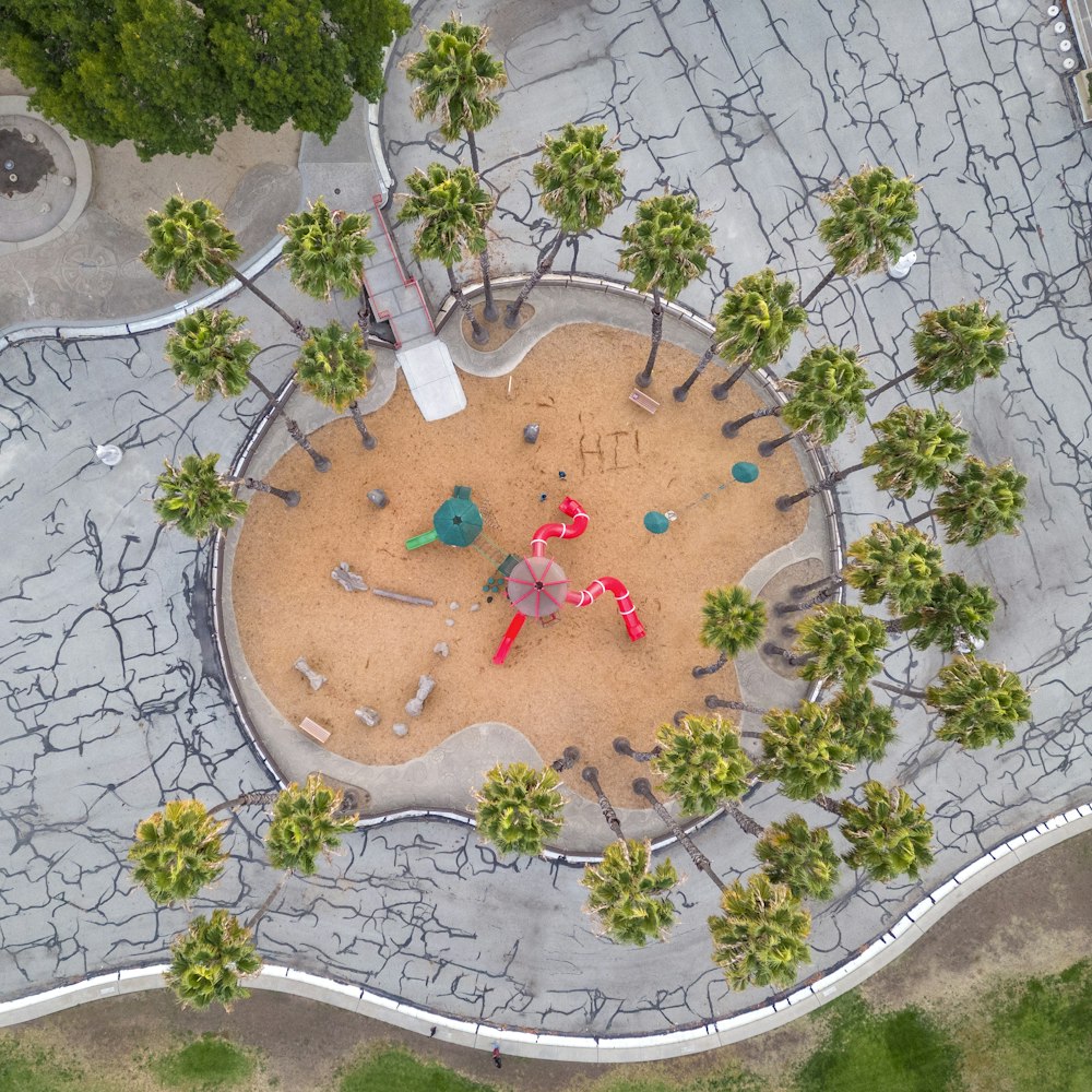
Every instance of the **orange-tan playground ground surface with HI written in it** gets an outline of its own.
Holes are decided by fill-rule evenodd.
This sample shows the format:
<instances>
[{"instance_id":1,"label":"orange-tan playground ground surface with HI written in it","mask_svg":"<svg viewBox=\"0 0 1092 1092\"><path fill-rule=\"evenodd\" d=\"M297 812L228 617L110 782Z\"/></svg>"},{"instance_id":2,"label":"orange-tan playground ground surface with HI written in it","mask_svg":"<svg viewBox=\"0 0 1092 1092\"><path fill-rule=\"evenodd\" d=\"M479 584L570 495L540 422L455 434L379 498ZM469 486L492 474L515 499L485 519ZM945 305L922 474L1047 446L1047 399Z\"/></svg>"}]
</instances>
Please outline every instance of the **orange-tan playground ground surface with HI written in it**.
<instances>
[{"instance_id":1,"label":"orange-tan playground ground surface with HI written in it","mask_svg":"<svg viewBox=\"0 0 1092 1092\"><path fill-rule=\"evenodd\" d=\"M625 330L562 327L510 376L461 375L463 413L426 423L400 377L393 397L368 417L379 439L373 451L345 417L311 435L333 462L328 473L295 447L277 462L268 479L299 489L302 499L289 510L276 498L248 496L234 609L251 676L289 722L311 717L331 732L330 750L387 764L416 758L467 725L501 721L546 762L579 747L580 761L563 775L574 792L591 795L580 778L591 764L613 803L644 806L631 782L648 767L615 753L614 738L649 748L676 710L703 710L709 692L737 697L731 664L707 678L690 674L716 658L698 639L703 593L737 583L796 538L807 518L807 502L785 513L774 506L781 494L804 488L797 446L767 459L757 451L761 440L783 435L775 418L752 422L733 440L721 436L723 422L759 406L753 387L740 381L728 401L715 402L709 387L724 373L711 368L686 403L675 403L670 390L696 361L665 341L648 392L661 407L649 414L628 397L648 351L648 337ZM531 422L541 425L534 446L523 439ZM758 465L757 480L733 480L739 461ZM407 550L406 539L432 526L455 486L471 488L483 535L471 547L434 542ZM366 497L377 487L390 498L383 509ZM513 608L503 592L485 590L496 574L484 556L492 553L488 541L501 555L529 554L539 525L571 522L558 511L566 496L584 507L590 524L578 538L550 539L546 556L577 591L597 577L621 580L648 636L631 642L606 594L562 608L549 625L529 620L496 666ZM677 520L652 534L643 523L650 511L673 511ZM330 577L342 561L370 587L436 606L346 592ZM440 642L446 657L434 651ZM299 656L327 676L319 691L294 669ZM426 674L436 688L422 715L408 716L405 704ZM376 727L355 715L365 705L379 711ZM396 736L396 723L408 734Z\"/></svg>"}]
</instances>

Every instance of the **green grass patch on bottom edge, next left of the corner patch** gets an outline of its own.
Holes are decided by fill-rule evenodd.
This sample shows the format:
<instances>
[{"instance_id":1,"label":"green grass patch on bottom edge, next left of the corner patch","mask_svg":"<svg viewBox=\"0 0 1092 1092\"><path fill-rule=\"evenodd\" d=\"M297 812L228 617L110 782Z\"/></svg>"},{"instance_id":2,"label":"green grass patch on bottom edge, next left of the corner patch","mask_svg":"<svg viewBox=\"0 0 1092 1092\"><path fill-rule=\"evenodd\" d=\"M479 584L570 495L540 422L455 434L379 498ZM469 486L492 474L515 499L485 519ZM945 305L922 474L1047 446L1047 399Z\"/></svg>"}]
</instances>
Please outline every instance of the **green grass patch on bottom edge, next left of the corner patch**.
<instances>
[{"instance_id":1,"label":"green grass patch on bottom edge, next left of the corner patch","mask_svg":"<svg viewBox=\"0 0 1092 1092\"><path fill-rule=\"evenodd\" d=\"M917 1008L875 1012L857 994L822 1012L826 1037L795 1073L799 1092L956 1092L960 1051Z\"/></svg>"}]
</instances>

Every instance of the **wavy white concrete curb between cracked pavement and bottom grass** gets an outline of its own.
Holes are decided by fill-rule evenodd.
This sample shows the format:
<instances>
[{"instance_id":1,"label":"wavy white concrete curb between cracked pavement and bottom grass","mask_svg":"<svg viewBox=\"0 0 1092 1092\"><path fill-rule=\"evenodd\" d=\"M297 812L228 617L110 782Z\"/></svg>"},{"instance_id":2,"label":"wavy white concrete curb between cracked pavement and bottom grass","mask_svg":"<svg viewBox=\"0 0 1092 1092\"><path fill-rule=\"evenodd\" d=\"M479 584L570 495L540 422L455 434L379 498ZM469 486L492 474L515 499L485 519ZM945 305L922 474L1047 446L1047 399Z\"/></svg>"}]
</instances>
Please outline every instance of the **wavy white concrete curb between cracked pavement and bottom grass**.
<instances>
[{"instance_id":1,"label":"wavy white concrete curb between cracked pavement and bottom grass","mask_svg":"<svg viewBox=\"0 0 1092 1092\"><path fill-rule=\"evenodd\" d=\"M495 1026L447 1017L364 986L277 964L263 966L258 977L247 985L335 1005L419 1034L426 1034L436 1028L439 1038L460 1046L489 1049L494 1043L498 1043L506 1053L519 1057L603 1064L650 1061L698 1054L772 1031L815 1011L834 997L858 986L902 954L945 914L990 880L1043 850L1090 830L1092 804L1045 819L964 866L870 945L822 976L760 1008L663 1034L604 1037ZM143 968L127 968L16 1000L2 1001L0 1028L14 1026L104 997L162 989L165 987L163 976L167 966L166 963L156 963Z\"/></svg>"}]
</instances>

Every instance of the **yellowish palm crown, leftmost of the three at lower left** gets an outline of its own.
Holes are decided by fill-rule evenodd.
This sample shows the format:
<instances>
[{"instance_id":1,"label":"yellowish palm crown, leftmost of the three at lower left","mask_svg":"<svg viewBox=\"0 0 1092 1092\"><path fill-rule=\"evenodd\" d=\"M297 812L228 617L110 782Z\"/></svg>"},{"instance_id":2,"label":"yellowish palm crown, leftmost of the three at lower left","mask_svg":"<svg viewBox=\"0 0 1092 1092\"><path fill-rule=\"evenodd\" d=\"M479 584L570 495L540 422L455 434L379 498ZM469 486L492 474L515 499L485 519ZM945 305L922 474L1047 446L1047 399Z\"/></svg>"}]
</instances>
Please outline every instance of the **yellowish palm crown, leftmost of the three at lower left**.
<instances>
[{"instance_id":1,"label":"yellowish palm crown, leftmost of the three at lower left","mask_svg":"<svg viewBox=\"0 0 1092 1092\"><path fill-rule=\"evenodd\" d=\"M198 800L168 800L136 823L129 859L133 879L154 902L189 902L224 871L224 824Z\"/></svg>"}]
</instances>

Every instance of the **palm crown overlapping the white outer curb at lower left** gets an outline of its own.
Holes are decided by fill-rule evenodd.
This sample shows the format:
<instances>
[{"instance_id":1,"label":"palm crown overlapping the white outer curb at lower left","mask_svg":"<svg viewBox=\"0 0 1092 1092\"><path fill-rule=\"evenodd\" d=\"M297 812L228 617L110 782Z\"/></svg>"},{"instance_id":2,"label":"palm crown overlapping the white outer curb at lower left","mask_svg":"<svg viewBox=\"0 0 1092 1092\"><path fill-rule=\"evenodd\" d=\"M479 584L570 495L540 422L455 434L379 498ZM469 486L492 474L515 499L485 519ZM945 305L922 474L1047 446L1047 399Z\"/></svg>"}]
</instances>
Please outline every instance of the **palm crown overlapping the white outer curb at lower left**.
<instances>
[{"instance_id":1,"label":"palm crown overlapping the white outer curb at lower left","mask_svg":"<svg viewBox=\"0 0 1092 1092\"><path fill-rule=\"evenodd\" d=\"M250 996L241 980L261 966L250 929L226 910L214 910L176 937L164 977L183 1008L206 1009L216 1001L230 1011L233 1002Z\"/></svg>"}]
</instances>

